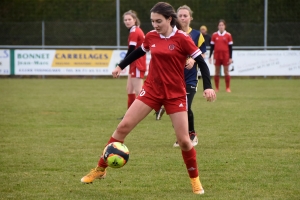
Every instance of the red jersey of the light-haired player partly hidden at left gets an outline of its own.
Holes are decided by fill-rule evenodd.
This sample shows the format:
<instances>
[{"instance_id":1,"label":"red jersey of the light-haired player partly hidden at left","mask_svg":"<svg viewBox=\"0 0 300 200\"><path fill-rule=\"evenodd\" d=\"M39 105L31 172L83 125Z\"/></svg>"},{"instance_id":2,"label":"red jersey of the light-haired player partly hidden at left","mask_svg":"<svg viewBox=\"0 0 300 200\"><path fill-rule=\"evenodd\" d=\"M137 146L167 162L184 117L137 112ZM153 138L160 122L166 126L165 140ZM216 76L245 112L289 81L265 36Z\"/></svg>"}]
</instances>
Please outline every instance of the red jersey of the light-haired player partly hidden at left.
<instances>
[{"instance_id":1,"label":"red jersey of the light-haired player partly hidden at left","mask_svg":"<svg viewBox=\"0 0 300 200\"><path fill-rule=\"evenodd\" d=\"M142 29L140 29L138 26L131 27L128 36L128 48L130 45L133 45L135 46L135 49L137 49L142 45L144 38L145 35ZM132 62L130 67L136 67L141 71L146 71L146 55Z\"/></svg>"}]
</instances>

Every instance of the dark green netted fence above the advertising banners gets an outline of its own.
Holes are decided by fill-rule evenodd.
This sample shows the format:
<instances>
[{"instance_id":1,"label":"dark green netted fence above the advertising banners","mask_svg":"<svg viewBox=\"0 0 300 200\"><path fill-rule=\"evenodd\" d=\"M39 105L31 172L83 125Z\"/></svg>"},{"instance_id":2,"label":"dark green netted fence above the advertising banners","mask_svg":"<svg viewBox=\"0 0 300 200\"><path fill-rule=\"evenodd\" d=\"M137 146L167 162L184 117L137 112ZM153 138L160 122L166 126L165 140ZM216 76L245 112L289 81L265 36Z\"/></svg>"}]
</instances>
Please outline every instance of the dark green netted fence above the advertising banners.
<instances>
[{"instance_id":1,"label":"dark green netted fence above the advertising banners","mask_svg":"<svg viewBox=\"0 0 300 200\"><path fill-rule=\"evenodd\" d=\"M177 9L194 11L191 27L217 31L227 22L235 46L264 45L264 0L170 0ZM120 0L120 43L127 45L122 14L138 13L144 32L152 30L149 10L157 1ZM300 1L268 1L268 46L300 45ZM3 0L0 2L0 45L117 45L116 0Z\"/></svg>"}]
</instances>

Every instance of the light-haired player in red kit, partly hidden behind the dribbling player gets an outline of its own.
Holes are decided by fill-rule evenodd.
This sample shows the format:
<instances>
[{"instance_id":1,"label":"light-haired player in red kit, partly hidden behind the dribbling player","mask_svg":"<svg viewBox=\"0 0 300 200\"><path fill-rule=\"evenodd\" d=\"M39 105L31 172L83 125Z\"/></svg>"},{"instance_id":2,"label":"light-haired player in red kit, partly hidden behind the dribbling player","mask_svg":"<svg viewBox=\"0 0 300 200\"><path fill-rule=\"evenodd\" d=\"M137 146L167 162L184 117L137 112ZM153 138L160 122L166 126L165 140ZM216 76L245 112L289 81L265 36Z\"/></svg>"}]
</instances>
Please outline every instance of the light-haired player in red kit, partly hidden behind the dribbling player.
<instances>
[{"instance_id":1,"label":"light-haired player in red kit, partly hidden behind the dribbling player","mask_svg":"<svg viewBox=\"0 0 300 200\"><path fill-rule=\"evenodd\" d=\"M145 35L143 30L139 27L140 20L133 10L129 10L123 14L123 21L129 30L128 36L128 50L125 58L135 49L142 45ZM146 71L146 55L137 59L130 64L128 80L127 80L127 109L131 106L136 96L140 93L143 86L143 78ZM121 117L120 119L122 119Z\"/></svg>"}]
</instances>

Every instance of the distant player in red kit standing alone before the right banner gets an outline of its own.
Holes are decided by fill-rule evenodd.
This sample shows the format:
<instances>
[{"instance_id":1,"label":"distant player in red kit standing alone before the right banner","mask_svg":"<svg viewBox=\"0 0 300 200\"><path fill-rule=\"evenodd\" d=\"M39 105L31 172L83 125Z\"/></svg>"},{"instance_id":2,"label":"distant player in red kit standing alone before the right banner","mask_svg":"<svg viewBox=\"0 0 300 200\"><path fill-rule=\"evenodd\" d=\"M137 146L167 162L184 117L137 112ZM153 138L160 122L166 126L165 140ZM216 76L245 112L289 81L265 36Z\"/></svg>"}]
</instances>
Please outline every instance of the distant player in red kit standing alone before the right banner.
<instances>
[{"instance_id":1,"label":"distant player in red kit standing alone before the right banner","mask_svg":"<svg viewBox=\"0 0 300 200\"><path fill-rule=\"evenodd\" d=\"M230 75L229 75L229 65L232 63L232 37L231 34L225 30L226 22L221 19L218 25L218 31L213 33L210 42L210 53L209 62L211 63L211 55L214 53L214 64L215 64L215 86L216 91L219 91L219 81L220 81L220 68L221 65L224 67L226 92L231 92L230 90Z\"/></svg>"}]
</instances>

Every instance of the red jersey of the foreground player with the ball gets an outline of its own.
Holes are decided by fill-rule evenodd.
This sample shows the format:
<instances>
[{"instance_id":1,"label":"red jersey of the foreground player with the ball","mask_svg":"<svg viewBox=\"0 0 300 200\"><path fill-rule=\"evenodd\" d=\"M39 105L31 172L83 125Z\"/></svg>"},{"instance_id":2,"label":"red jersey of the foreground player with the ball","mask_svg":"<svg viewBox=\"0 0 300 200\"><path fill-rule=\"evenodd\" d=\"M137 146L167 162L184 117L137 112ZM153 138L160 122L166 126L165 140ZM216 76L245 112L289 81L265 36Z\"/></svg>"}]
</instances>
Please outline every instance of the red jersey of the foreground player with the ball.
<instances>
[{"instance_id":1,"label":"red jersey of the foreground player with the ball","mask_svg":"<svg viewBox=\"0 0 300 200\"><path fill-rule=\"evenodd\" d=\"M145 52L151 52L149 74L144 87L152 96L173 99L186 96L184 68L188 56L196 58L200 49L184 31L173 28L169 37L155 30L147 33L142 44Z\"/></svg>"}]
</instances>

